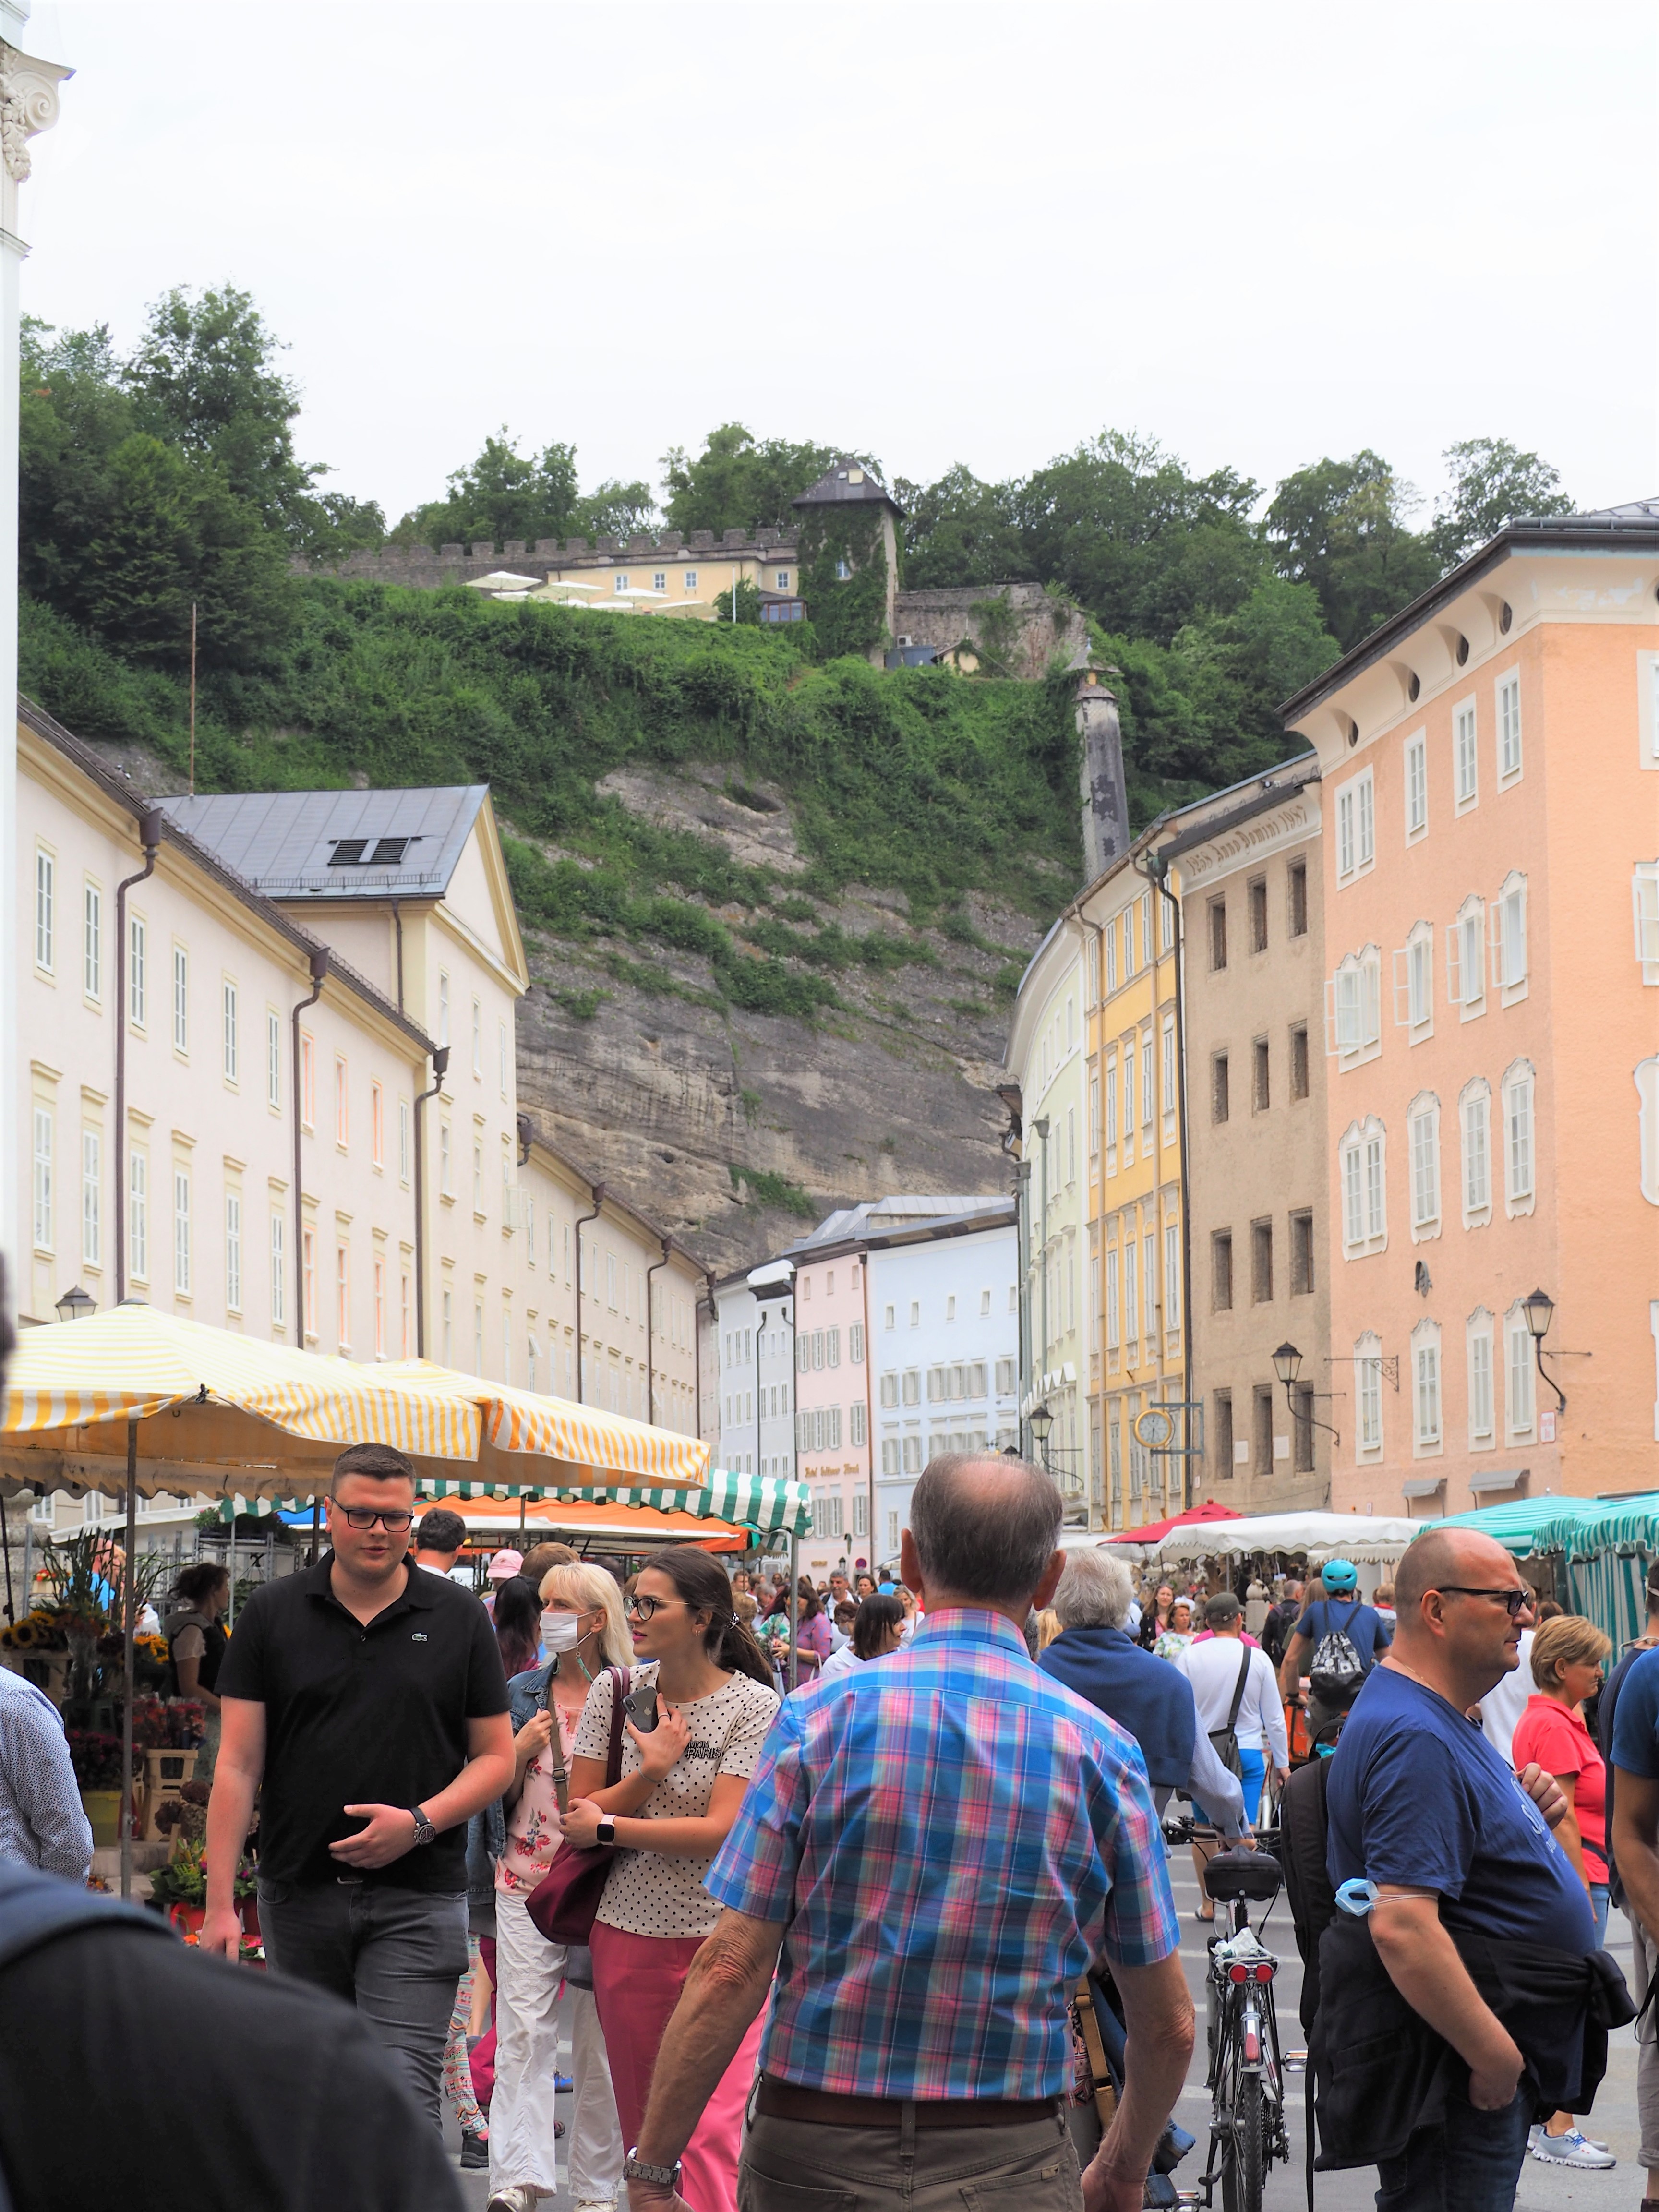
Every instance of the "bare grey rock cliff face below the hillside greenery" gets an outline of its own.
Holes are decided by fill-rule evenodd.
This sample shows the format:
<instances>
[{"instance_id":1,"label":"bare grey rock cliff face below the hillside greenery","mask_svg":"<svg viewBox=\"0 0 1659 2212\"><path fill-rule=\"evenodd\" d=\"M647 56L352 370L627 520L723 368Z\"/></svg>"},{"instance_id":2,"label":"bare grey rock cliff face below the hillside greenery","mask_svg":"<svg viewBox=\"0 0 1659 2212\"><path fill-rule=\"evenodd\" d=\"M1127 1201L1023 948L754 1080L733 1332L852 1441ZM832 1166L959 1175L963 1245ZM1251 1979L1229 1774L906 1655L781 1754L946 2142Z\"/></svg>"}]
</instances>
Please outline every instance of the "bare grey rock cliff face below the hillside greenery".
<instances>
[{"instance_id":1,"label":"bare grey rock cliff face below the hillside greenery","mask_svg":"<svg viewBox=\"0 0 1659 2212\"><path fill-rule=\"evenodd\" d=\"M726 770L628 768L602 790L748 865L803 869L785 794L745 785L739 801L723 785ZM907 925L894 891L816 909L856 938ZM619 947L531 933L520 1106L717 1270L885 1190L1006 1190L1006 984L1037 929L993 896L971 894L967 911L971 936L916 931L931 964L838 969L843 1006L816 1022L723 1004L690 953L641 969Z\"/></svg>"}]
</instances>

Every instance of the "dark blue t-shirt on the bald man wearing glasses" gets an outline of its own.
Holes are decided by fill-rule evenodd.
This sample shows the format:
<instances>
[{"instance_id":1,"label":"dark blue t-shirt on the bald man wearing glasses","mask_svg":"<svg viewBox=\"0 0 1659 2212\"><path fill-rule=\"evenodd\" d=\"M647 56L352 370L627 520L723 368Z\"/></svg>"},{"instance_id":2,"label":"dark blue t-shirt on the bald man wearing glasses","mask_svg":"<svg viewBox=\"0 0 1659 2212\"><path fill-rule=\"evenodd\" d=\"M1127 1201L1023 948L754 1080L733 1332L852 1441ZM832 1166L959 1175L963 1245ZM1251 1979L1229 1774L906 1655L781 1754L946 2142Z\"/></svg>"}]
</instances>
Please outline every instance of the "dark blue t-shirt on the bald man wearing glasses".
<instances>
[{"instance_id":1,"label":"dark blue t-shirt on the bald man wearing glasses","mask_svg":"<svg viewBox=\"0 0 1659 2212\"><path fill-rule=\"evenodd\" d=\"M1449 1929L1595 1951L1584 1882L1544 1814L1473 1721L1394 1668L1365 1677L1332 1754L1325 1867L1336 1885L1433 1889Z\"/></svg>"}]
</instances>

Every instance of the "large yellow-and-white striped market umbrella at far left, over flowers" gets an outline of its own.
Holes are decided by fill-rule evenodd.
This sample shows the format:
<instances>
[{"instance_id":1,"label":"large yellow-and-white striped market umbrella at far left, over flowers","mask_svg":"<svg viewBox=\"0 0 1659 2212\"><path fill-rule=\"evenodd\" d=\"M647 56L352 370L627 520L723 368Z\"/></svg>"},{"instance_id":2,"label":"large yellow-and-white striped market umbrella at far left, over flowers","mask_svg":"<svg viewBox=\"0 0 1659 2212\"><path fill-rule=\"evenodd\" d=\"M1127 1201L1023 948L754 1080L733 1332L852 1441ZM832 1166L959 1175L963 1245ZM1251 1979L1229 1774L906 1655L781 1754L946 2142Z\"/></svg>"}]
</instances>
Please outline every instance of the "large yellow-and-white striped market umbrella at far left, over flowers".
<instances>
[{"instance_id":1,"label":"large yellow-and-white striped market umbrella at far left, over flowers","mask_svg":"<svg viewBox=\"0 0 1659 2212\"><path fill-rule=\"evenodd\" d=\"M142 1489L179 1495L292 1489L345 1444L396 1444L471 1462L471 1394L387 1385L383 1369L117 1305L24 1329L7 1369L0 1471L24 1482L104 1484L139 1422ZM104 1462L104 1464L100 1464ZM252 1480L248 1480L252 1478ZM122 1467L124 1480L124 1467Z\"/></svg>"}]
</instances>

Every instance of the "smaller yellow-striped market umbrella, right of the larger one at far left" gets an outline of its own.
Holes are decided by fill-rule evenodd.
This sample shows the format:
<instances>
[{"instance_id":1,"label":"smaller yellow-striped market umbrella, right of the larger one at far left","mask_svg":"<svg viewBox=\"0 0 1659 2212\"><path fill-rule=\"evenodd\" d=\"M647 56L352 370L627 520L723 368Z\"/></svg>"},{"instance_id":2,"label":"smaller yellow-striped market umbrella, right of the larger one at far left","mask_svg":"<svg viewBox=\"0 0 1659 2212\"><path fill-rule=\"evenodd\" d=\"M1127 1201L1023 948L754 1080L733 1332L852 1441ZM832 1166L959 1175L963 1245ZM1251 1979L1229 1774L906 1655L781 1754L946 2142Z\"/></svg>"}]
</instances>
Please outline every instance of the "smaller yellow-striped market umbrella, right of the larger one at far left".
<instances>
[{"instance_id":1,"label":"smaller yellow-striped market umbrella, right of the larger one at far left","mask_svg":"<svg viewBox=\"0 0 1659 2212\"><path fill-rule=\"evenodd\" d=\"M502 1484L513 1489L560 1480L551 1471L515 1464L533 1460L557 1460L564 1482L622 1478L697 1489L708 1478L710 1449L701 1438L628 1420L626 1413L456 1374L434 1360L392 1360L376 1376L416 1400L429 1394L465 1396L478 1407L484 1425L480 1467L476 1475L458 1478L469 1486L500 1491ZM586 1475L577 1475L577 1469Z\"/></svg>"}]
</instances>

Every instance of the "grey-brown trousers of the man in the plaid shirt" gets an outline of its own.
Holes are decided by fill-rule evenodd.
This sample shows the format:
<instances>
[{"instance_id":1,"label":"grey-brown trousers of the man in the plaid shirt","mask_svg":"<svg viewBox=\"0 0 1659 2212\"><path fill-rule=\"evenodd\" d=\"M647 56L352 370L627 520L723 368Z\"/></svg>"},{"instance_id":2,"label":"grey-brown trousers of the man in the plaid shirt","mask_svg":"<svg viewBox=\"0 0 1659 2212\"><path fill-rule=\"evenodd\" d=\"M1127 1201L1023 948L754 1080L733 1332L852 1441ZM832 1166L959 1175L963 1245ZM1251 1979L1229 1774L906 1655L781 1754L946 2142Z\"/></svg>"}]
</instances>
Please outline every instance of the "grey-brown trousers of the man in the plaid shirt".
<instances>
[{"instance_id":1,"label":"grey-brown trousers of the man in the plaid shirt","mask_svg":"<svg viewBox=\"0 0 1659 2212\"><path fill-rule=\"evenodd\" d=\"M737 2212L1082 2212L1066 2121L1013 2128L830 2128L757 2112Z\"/></svg>"}]
</instances>

